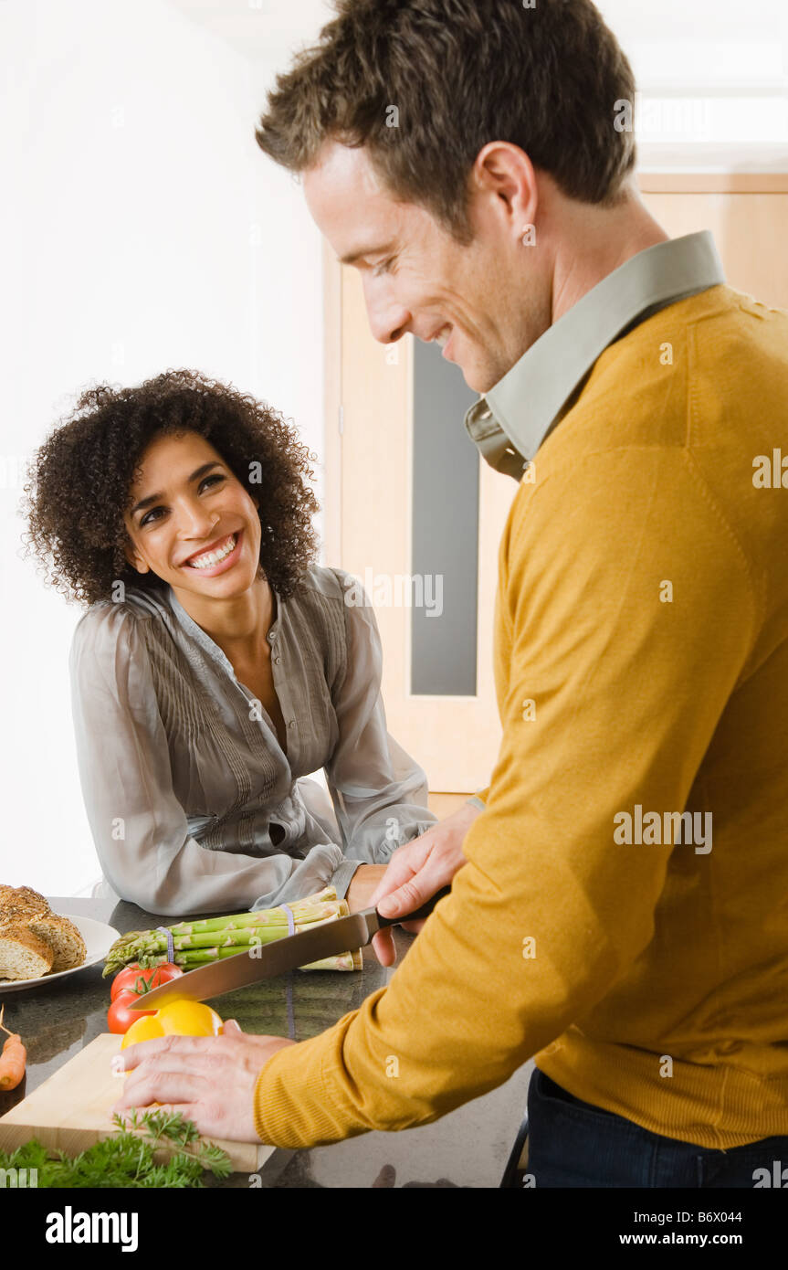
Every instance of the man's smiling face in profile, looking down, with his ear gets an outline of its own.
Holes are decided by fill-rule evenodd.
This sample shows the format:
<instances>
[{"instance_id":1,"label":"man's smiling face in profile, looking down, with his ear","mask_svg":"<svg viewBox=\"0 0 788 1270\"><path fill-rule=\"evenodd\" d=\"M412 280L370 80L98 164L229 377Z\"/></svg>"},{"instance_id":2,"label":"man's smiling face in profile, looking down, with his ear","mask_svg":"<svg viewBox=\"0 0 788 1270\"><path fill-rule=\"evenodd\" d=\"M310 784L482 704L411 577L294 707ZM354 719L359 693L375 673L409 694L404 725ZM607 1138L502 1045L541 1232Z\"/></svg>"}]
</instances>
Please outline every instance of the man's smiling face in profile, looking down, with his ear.
<instances>
[{"instance_id":1,"label":"man's smiling face in profile, looking down, with his ear","mask_svg":"<svg viewBox=\"0 0 788 1270\"><path fill-rule=\"evenodd\" d=\"M523 246L492 188L475 189L467 246L415 203L395 202L363 146L326 142L303 175L307 206L339 259L362 274L372 334L383 344L410 331L440 339L466 384L486 392L549 325L529 305L524 272L537 253ZM516 213L515 213L516 215ZM532 259L528 259L525 253ZM534 274L532 295L539 295Z\"/></svg>"}]
</instances>

